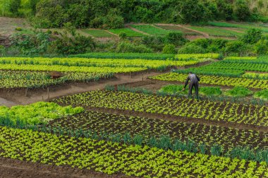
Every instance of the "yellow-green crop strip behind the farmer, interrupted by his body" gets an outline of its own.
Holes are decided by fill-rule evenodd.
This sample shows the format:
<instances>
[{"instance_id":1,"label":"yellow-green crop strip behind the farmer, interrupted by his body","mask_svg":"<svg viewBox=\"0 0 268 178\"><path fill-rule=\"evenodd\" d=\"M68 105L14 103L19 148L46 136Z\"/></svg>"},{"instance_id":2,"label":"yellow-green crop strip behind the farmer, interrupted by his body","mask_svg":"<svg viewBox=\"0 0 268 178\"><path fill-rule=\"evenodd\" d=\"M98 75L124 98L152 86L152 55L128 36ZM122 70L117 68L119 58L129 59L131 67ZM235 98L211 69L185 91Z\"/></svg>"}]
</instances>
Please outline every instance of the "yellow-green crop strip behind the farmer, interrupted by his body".
<instances>
[{"instance_id":1,"label":"yellow-green crop strip behind the farmer, interrupted by his body","mask_svg":"<svg viewBox=\"0 0 268 178\"><path fill-rule=\"evenodd\" d=\"M160 81L178 81L185 82L188 74L184 73L165 73L159 76L153 76L152 79ZM235 78L226 76L200 76L200 83L209 85L224 86L243 86L246 88L267 89L268 80L258 80L252 78Z\"/></svg>"}]
</instances>

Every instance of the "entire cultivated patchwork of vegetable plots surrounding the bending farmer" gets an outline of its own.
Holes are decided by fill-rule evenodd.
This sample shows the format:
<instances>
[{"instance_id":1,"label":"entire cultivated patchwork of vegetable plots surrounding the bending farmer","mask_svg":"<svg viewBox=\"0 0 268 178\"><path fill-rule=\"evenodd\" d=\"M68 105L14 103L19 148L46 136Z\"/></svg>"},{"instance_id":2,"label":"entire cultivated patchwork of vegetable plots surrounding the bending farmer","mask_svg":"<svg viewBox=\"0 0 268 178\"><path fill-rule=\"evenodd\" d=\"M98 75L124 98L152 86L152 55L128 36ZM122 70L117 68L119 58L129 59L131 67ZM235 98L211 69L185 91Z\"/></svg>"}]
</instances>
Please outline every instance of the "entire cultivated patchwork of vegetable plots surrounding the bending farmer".
<instances>
[{"instance_id":1,"label":"entire cultivated patchwork of vegetable plots surrounding the bending farmer","mask_svg":"<svg viewBox=\"0 0 268 178\"><path fill-rule=\"evenodd\" d=\"M73 169L78 177L268 177L268 58L217 58L112 53L0 58L1 95L18 102L19 89L28 88L32 100L51 85L59 94L32 105L0 107L1 172L44 174L38 165L49 166L45 173L52 177L53 167ZM53 78L52 71L62 76ZM189 71L200 76L200 98L185 97L178 85ZM130 73L139 78L134 81ZM130 76L122 83L118 75ZM75 82L109 85L61 93ZM248 90L244 102L234 95L219 99L221 93ZM5 166L12 160L23 170Z\"/></svg>"}]
</instances>

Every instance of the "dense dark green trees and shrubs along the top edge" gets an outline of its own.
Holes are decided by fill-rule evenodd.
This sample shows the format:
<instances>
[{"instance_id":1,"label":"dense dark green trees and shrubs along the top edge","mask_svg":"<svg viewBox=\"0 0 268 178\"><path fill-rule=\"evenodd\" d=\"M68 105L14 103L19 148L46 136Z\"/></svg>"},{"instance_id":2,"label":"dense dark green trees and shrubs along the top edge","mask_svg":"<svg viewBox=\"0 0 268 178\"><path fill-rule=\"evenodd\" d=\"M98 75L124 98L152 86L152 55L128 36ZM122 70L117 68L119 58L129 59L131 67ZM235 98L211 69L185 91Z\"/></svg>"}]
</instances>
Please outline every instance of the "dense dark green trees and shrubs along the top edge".
<instances>
[{"instance_id":1,"label":"dense dark green trees and shrubs along the top edge","mask_svg":"<svg viewBox=\"0 0 268 178\"><path fill-rule=\"evenodd\" d=\"M255 8L252 4L247 0L9 0L0 1L0 8L2 16L32 15L32 22L44 28L62 27L67 22L77 28L122 28L128 22L265 20L267 4L260 2Z\"/></svg>"}]
</instances>

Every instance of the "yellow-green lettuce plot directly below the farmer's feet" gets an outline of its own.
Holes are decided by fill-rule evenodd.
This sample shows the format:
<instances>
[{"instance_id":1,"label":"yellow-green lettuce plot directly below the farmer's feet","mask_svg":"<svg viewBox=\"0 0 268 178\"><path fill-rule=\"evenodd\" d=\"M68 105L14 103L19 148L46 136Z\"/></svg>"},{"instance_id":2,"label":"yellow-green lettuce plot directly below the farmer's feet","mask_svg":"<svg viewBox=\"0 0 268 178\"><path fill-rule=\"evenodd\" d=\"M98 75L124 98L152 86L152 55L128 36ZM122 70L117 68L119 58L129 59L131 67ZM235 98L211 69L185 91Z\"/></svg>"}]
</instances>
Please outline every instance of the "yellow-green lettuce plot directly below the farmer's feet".
<instances>
[{"instance_id":1,"label":"yellow-green lettuce plot directly below the farmer's feet","mask_svg":"<svg viewBox=\"0 0 268 178\"><path fill-rule=\"evenodd\" d=\"M98 90L61 97L55 100L55 102L60 105L105 107L212 121L230 121L268 126L267 107L241 105L230 102L188 100L178 97Z\"/></svg>"}]
</instances>

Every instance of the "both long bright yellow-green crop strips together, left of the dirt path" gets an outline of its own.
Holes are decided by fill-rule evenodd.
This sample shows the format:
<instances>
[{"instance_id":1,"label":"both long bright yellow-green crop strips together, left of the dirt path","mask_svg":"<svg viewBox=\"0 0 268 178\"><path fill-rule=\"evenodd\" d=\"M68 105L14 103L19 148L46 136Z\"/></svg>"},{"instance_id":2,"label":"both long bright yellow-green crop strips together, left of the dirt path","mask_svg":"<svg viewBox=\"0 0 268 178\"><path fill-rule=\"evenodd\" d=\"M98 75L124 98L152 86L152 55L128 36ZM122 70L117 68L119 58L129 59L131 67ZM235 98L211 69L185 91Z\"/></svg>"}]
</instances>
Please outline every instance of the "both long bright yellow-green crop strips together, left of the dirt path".
<instances>
[{"instance_id":1,"label":"both long bright yellow-green crop strips together, left of the dirt path","mask_svg":"<svg viewBox=\"0 0 268 178\"><path fill-rule=\"evenodd\" d=\"M85 58L0 58L0 69L33 71L76 71L113 73L143 71L168 66L197 64L206 59L187 61L147 60L147 59L85 59Z\"/></svg>"}]
</instances>

